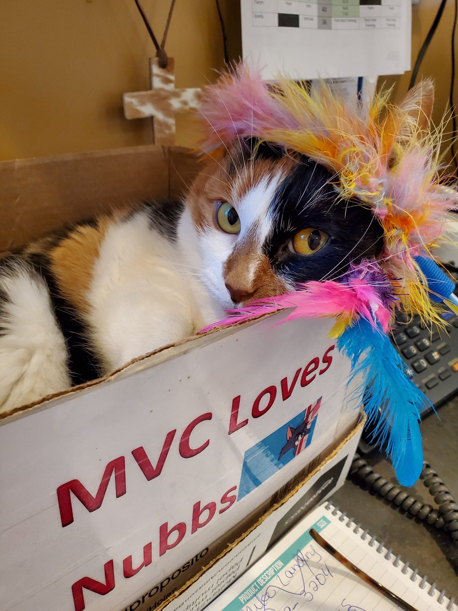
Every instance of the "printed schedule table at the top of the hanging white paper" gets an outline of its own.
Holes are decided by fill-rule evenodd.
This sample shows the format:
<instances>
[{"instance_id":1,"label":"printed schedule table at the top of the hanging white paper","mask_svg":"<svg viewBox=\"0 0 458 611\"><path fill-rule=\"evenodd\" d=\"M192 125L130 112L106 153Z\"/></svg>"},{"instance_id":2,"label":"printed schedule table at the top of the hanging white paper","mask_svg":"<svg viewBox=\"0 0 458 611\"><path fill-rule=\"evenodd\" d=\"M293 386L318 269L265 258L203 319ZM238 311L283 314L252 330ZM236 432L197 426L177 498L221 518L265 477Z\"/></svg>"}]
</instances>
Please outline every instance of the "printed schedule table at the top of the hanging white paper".
<instances>
[{"instance_id":1,"label":"printed schedule table at the top of the hanging white paper","mask_svg":"<svg viewBox=\"0 0 458 611\"><path fill-rule=\"evenodd\" d=\"M253 27L400 29L401 0L251 0Z\"/></svg>"}]
</instances>

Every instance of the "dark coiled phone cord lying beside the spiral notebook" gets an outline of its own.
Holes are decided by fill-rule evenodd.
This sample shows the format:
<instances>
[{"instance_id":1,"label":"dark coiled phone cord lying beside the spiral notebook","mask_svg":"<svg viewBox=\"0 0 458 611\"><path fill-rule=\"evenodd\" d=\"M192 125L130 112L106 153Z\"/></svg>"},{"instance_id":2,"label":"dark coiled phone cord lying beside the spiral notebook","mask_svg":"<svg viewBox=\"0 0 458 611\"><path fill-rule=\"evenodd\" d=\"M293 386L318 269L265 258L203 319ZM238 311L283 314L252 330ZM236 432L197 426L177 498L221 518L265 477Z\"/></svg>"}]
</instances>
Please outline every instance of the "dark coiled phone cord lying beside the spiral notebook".
<instances>
[{"instance_id":1,"label":"dark coiled phone cord lying beside the spiral notebook","mask_svg":"<svg viewBox=\"0 0 458 611\"><path fill-rule=\"evenodd\" d=\"M408 511L415 518L424 520L437 529L446 530L451 540L458 545L458 505L443 480L426 461L423 463L420 479L434 497L434 502L438 505L437 509L410 496L402 486L392 484L382 475L374 472L358 453L355 453L348 477L362 481L380 497Z\"/></svg>"}]
</instances>

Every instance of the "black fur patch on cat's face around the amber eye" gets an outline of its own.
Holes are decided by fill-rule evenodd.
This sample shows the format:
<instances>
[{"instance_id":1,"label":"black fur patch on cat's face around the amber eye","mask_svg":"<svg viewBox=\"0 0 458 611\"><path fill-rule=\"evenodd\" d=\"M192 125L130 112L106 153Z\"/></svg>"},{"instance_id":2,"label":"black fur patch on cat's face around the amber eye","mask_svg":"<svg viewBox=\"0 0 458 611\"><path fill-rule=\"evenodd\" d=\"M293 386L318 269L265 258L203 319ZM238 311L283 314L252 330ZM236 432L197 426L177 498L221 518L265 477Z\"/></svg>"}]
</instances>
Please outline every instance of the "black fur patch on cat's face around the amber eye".
<instances>
[{"instance_id":1,"label":"black fur patch on cat's face around the amber eye","mask_svg":"<svg viewBox=\"0 0 458 611\"><path fill-rule=\"evenodd\" d=\"M337 178L330 170L302 156L278 186L271 203L274 230L264 252L290 282L334 279L351 261L376 257L382 249L383 229L371 210L342 199L333 182ZM309 256L289 251L294 234L308 228L329 235L321 250Z\"/></svg>"}]
</instances>

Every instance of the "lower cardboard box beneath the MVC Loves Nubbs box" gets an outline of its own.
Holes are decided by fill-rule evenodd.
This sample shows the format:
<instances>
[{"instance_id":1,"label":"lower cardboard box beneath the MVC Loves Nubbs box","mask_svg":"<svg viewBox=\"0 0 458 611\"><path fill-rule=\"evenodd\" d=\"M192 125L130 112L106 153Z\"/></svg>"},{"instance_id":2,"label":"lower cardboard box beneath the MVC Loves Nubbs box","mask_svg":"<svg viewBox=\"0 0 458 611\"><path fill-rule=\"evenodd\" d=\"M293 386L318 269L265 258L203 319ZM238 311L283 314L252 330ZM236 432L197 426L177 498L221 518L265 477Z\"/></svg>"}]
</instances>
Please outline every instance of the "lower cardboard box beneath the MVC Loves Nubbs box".
<instances>
[{"instance_id":1,"label":"lower cardboard box beneath the MVC Loves Nubbs box","mask_svg":"<svg viewBox=\"0 0 458 611\"><path fill-rule=\"evenodd\" d=\"M300 483L281 496L276 496L271 507L241 536L229 538L225 549L206 566L195 571L194 577L181 585L183 573L178 576L173 573L132 601L125 607L125 611L203 609L304 518L305 514L343 486L363 425L364 422L360 422L347 439ZM208 552L202 552L205 552L204 558L207 560Z\"/></svg>"}]
</instances>

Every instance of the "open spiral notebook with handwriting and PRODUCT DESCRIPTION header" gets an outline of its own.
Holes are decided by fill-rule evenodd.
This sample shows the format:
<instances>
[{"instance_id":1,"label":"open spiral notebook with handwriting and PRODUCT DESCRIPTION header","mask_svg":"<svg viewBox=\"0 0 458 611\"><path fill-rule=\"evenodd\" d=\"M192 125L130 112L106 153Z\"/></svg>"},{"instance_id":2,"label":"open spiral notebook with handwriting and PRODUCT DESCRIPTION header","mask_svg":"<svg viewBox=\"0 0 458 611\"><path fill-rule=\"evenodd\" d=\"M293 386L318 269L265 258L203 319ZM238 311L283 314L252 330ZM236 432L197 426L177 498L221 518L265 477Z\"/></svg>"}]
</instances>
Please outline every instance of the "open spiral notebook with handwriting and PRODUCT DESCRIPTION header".
<instances>
[{"instance_id":1,"label":"open spiral notebook with handwriting and PRODUCT DESCRIPTION header","mask_svg":"<svg viewBox=\"0 0 458 611\"><path fill-rule=\"evenodd\" d=\"M416 610L458 611L454 598L330 503L311 511L206 611L401 609L319 546L310 529Z\"/></svg>"}]
</instances>

